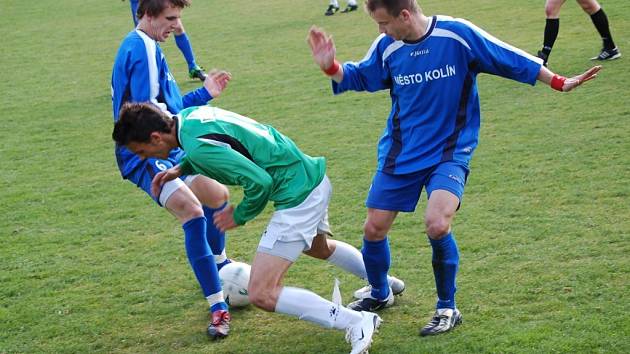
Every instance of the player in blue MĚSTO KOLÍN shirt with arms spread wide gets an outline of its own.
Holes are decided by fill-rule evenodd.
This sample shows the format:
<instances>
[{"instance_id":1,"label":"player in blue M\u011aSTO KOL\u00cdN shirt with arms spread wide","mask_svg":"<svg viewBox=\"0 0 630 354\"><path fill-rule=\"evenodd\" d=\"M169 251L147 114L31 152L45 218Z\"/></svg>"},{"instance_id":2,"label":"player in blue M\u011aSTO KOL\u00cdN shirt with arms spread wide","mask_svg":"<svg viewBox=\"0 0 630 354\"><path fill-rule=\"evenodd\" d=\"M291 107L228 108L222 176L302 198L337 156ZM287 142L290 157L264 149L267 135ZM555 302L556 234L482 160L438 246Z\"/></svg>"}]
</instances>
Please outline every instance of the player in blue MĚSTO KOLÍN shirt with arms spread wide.
<instances>
[{"instance_id":1,"label":"player in blue M\u011aSTO KOL\u00cdN shirt with arms spread wide","mask_svg":"<svg viewBox=\"0 0 630 354\"><path fill-rule=\"evenodd\" d=\"M477 74L531 85L538 80L567 92L594 78L600 67L572 78L556 75L541 59L468 21L425 16L415 0L367 0L366 8L381 35L358 63L339 64L332 38L322 30L313 27L308 36L315 62L332 78L333 93L389 90L392 100L366 201L362 253L371 292L349 307L374 311L393 303L387 233L399 212L415 210L424 188L438 300L420 334L444 333L462 320L455 305L459 252L451 223L479 136Z\"/></svg>"}]
</instances>

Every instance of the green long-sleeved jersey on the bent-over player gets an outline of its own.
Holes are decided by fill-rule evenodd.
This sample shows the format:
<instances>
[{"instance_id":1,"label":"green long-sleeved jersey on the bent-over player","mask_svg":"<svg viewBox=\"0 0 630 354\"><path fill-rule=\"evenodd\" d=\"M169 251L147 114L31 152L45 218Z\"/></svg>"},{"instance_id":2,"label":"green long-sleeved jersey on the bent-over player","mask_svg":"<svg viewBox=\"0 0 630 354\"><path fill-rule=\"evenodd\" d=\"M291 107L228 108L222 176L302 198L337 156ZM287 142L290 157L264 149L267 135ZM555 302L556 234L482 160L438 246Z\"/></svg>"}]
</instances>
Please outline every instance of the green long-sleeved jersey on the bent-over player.
<instances>
[{"instance_id":1,"label":"green long-sleeved jersey on the bent-over player","mask_svg":"<svg viewBox=\"0 0 630 354\"><path fill-rule=\"evenodd\" d=\"M271 126L216 107L191 107L176 117L177 139L186 152L183 174L202 174L243 187L234 221L243 225L272 200L276 210L306 199L323 180L323 157L304 154Z\"/></svg>"}]
</instances>

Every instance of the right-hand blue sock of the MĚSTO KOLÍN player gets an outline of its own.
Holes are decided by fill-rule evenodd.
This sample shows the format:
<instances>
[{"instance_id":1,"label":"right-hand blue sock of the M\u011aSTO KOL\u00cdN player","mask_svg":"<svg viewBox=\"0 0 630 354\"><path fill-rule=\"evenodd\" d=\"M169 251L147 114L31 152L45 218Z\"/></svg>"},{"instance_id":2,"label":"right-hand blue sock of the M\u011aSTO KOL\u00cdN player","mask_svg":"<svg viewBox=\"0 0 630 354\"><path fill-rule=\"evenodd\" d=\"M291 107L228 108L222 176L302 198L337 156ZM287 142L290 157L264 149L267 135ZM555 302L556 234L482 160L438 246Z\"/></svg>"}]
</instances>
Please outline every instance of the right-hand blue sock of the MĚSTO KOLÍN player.
<instances>
[{"instance_id":1,"label":"right-hand blue sock of the M\u011aSTO KOL\u00cdN player","mask_svg":"<svg viewBox=\"0 0 630 354\"><path fill-rule=\"evenodd\" d=\"M455 278L459 266L459 252L452 233L439 240L429 238L433 248L433 275L438 293L438 309L455 308Z\"/></svg>"}]
</instances>

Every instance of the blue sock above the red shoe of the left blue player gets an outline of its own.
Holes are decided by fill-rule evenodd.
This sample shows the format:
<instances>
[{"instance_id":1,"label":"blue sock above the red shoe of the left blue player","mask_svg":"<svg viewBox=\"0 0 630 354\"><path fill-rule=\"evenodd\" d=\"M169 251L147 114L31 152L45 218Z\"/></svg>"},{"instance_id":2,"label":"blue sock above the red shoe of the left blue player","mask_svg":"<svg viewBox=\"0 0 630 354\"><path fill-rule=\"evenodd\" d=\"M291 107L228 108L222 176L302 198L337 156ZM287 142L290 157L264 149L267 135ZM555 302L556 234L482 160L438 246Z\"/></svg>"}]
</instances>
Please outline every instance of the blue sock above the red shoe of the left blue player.
<instances>
[{"instance_id":1,"label":"blue sock above the red shoe of the left blue player","mask_svg":"<svg viewBox=\"0 0 630 354\"><path fill-rule=\"evenodd\" d=\"M200 216L191 219L182 225L185 235L186 255L190 266L195 272L197 281L203 291L203 296L208 297L221 291L219 271L214 264L212 252L206 241L206 218ZM212 305L211 311L227 310L225 302Z\"/></svg>"}]
</instances>

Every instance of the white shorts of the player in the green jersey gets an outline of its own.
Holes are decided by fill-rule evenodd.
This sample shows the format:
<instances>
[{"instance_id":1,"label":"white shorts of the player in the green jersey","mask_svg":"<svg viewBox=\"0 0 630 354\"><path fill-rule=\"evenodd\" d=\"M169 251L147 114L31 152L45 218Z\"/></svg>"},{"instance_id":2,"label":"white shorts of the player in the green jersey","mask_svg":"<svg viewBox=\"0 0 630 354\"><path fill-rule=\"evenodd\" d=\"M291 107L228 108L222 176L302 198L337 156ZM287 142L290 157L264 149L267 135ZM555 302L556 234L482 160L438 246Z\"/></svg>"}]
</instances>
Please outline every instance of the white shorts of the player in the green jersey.
<instances>
[{"instance_id":1,"label":"white shorts of the player in the green jersey","mask_svg":"<svg viewBox=\"0 0 630 354\"><path fill-rule=\"evenodd\" d=\"M282 257L273 252L274 246L280 243L302 245L300 253L311 248L313 239L318 234L330 232L328 224L328 204L332 195L332 186L327 176L313 189L311 194L298 206L277 210L271 216L267 229L263 232L258 244L258 251ZM285 247L278 245L278 250ZM292 247L293 248L293 247ZM285 249L286 251L286 249ZM280 253L284 253L281 251ZM298 254L299 255L299 254ZM295 261L293 255L283 257Z\"/></svg>"}]
</instances>

